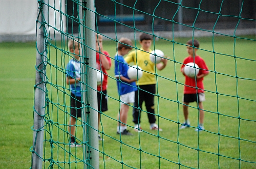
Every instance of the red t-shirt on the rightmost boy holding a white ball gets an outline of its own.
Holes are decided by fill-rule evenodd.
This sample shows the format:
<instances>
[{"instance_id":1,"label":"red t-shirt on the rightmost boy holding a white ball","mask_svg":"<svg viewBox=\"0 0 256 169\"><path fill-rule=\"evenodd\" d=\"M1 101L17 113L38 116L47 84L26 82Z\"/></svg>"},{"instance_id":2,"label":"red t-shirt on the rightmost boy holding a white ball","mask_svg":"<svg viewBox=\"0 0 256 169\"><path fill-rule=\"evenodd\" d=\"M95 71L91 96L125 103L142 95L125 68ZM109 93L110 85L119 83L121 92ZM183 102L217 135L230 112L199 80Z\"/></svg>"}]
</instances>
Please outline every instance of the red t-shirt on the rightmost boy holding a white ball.
<instances>
[{"instance_id":1,"label":"red t-shirt on the rightmost boy holding a white ball","mask_svg":"<svg viewBox=\"0 0 256 169\"><path fill-rule=\"evenodd\" d=\"M183 61L183 65L181 66L181 69L185 66L185 64L189 62L194 62L193 57L187 57ZM204 60L197 55L195 57L195 63L200 68L198 75L206 74L208 73L208 67L206 66ZM204 84L203 84L203 77L200 79L197 79L197 83L195 80L195 77L191 78L188 76L185 76L185 86L184 86L184 94L196 94L196 93L204 93ZM196 85L198 87L198 90L196 89Z\"/></svg>"}]
</instances>

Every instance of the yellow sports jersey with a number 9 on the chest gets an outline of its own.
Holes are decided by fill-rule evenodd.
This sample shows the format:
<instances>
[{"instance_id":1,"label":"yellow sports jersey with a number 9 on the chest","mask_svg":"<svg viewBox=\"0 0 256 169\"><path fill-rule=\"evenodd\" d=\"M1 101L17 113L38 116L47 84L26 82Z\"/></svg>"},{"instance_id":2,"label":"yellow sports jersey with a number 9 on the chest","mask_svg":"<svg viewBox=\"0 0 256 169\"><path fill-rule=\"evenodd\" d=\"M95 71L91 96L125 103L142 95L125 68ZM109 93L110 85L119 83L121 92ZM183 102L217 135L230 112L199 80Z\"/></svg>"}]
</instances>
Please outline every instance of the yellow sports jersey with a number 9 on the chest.
<instances>
[{"instance_id":1,"label":"yellow sports jersey with a number 9 on the chest","mask_svg":"<svg viewBox=\"0 0 256 169\"><path fill-rule=\"evenodd\" d=\"M152 50L150 49L150 52ZM131 51L124 60L130 64L138 65L143 70L143 75L139 79L139 85L153 85L156 84L155 63L150 60L150 53L140 50ZM136 64L137 63L137 64Z\"/></svg>"}]
</instances>

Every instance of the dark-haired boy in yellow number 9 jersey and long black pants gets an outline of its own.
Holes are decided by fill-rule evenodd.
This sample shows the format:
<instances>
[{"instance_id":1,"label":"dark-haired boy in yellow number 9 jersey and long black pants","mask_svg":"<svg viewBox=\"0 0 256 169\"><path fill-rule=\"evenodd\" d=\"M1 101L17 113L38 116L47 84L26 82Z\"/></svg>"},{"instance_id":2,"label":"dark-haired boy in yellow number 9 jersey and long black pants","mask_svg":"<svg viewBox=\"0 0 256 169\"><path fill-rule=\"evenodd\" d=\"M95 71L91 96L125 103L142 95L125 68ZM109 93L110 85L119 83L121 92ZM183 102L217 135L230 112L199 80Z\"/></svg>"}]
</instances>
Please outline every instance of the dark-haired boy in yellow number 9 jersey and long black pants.
<instances>
[{"instance_id":1,"label":"dark-haired boy in yellow number 9 jersey and long black pants","mask_svg":"<svg viewBox=\"0 0 256 169\"><path fill-rule=\"evenodd\" d=\"M124 59L128 64L133 62L134 65L138 65L143 70L143 75L139 79L138 91L135 91L135 102L133 108L133 122L135 123L135 131L142 130L140 127L140 115L142 110L142 103L145 102L148 122L150 123L151 130L162 131L158 127L155 117L154 96L156 93L156 75L155 75L155 63L150 60L150 49L153 37L150 34L142 33L139 37L140 49L130 52ZM166 59L161 59L161 63L156 65L158 70L162 70L167 65Z\"/></svg>"}]
</instances>

